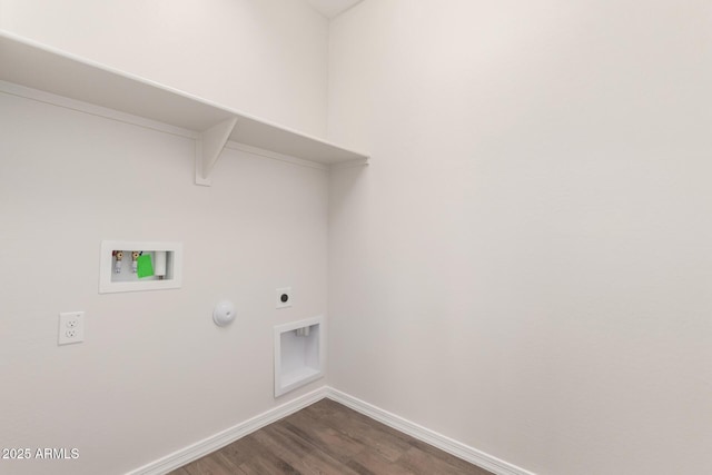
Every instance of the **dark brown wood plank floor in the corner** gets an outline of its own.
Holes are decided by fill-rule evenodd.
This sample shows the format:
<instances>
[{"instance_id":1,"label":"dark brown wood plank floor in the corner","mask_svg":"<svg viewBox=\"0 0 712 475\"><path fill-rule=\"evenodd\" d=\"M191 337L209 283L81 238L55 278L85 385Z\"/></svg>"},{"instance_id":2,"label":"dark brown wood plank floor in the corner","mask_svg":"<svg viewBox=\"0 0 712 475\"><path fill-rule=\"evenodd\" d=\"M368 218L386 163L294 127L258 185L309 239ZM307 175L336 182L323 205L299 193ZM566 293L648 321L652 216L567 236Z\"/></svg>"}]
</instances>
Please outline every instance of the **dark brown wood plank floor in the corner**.
<instances>
[{"instance_id":1,"label":"dark brown wood plank floor in the corner","mask_svg":"<svg viewBox=\"0 0 712 475\"><path fill-rule=\"evenodd\" d=\"M228 474L492 475L330 399L170 473Z\"/></svg>"}]
</instances>

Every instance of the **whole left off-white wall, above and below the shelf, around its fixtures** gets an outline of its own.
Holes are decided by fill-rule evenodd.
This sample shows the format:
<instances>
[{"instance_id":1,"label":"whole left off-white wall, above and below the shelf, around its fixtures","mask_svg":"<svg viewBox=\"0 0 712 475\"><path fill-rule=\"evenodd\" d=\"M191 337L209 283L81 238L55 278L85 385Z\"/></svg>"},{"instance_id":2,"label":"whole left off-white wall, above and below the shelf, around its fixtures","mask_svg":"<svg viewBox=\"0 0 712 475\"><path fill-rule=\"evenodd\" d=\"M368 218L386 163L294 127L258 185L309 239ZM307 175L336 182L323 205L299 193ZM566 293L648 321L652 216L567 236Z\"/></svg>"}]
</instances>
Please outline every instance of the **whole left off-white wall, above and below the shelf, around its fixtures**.
<instances>
[{"instance_id":1,"label":"whole left off-white wall, above and below the shelf, around its fixtures","mask_svg":"<svg viewBox=\"0 0 712 475\"><path fill-rule=\"evenodd\" d=\"M150 79L191 86L184 87L188 92L209 88L212 98L227 99L253 95L267 119L284 119L294 128L325 123L323 102L308 97L319 85L303 87L325 70L326 60L316 53L326 51L326 20L314 13L315 20L310 10L285 6L277 11L284 2L260 0L233 2L231 10L212 2L205 13L225 28L246 22L248 8L269 13L263 19L269 33L254 27L251 46L234 44L236 58L291 43L299 31L310 51L295 51L278 65L285 87L274 92L286 98L279 102L270 97L279 55L254 58L249 80L256 83L237 90L222 78L215 85L215 77L191 78L195 71L179 62L158 77L161 68L151 58L165 44L149 41L144 50L134 43L144 36L141 22L149 20L136 17L136 37L134 20L126 20L121 29L117 24L80 38L73 34L81 23L110 22L89 2L81 6L87 7L81 18L77 11L76 18L67 12L52 18L49 2L22 3L28 4L10 6L17 17L3 10L2 26ZM34 19L43 24L32 21L30 3L50 9L47 18ZM112 4L118 3L127 2ZM291 27L283 31L287 13L294 13ZM166 19L164 27L170 24ZM200 32L206 29L207 23ZM263 38L267 34L270 44ZM202 38L202 46L224 48L216 37ZM105 56L101 47L109 44ZM236 59L214 59L238 69ZM304 85L289 86L284 76ZM273 396L273 326L326 310L326 171L226 150L212 187L192 180L190 139L0 93L0 447L76 447L80 453L78 461L67 462L0 461L1 473L126 473L323 384L277 400ZM99 295L102 239L184 243L182 288ZM286 285L295 290L295 306L276 310L275 289ZM238 309L228 328L211 321L221 298L233 299ZM67 310L86 311L86 340L58 347L58 313Z\"/></svg>"}]
</instances>

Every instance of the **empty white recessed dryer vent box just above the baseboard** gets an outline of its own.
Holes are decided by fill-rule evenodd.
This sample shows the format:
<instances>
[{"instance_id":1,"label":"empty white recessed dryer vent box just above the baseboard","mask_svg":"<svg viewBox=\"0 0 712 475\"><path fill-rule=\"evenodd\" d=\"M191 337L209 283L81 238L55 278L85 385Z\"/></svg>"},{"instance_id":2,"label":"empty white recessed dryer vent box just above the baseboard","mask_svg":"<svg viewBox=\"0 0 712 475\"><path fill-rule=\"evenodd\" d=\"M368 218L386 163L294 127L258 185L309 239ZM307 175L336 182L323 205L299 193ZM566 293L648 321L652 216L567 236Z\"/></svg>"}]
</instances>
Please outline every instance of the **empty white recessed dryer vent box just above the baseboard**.
<instances>
[{"instance_id":1,"label":"empty white recessed dryer vent box just above the baseboard","mask_svg":"<svg viewBox=\"0 0 712 475\"><path fill-rule=\"evenodd\" d=\"M324 318L275 327L275 397L324 376Z\"/></svg>"}]
</instances>

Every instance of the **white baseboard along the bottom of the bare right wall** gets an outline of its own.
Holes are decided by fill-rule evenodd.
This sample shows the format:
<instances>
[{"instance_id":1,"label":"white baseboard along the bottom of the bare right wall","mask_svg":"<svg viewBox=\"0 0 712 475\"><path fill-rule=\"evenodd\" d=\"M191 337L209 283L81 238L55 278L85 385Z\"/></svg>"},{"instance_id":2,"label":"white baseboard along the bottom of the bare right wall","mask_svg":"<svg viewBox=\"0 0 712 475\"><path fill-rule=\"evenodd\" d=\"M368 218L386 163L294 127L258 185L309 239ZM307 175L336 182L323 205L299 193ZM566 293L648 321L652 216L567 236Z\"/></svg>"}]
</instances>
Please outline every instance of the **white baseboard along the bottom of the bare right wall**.
<instances>
[{"instance_id":1,"label":"white baseboard along the bottom of the bare right wall","mask_svg":"<svg viewBox=\"0 0 712 475\"><path fill-rule=\"evenodd\" d=\"M327 388L326 397L495 475L535 475L332 387Z\"/></svg>"}]
</instances>

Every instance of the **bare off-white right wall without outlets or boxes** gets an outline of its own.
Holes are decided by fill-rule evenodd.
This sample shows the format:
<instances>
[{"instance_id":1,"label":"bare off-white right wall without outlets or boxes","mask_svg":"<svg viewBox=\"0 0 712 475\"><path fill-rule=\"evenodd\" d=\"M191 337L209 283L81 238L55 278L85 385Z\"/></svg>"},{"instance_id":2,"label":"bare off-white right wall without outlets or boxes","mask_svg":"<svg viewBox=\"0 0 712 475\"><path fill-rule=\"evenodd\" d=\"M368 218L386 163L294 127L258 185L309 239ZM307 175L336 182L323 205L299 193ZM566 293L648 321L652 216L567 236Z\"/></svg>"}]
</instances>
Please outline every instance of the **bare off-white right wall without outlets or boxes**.
<instances>
[{"instance_id":1,"label":"bare off-white right wall without outlets or boxes","mask_svg":"<svg viewBox=\"0 0 712 475\"><path fill-rule=\"evenodd\" d=\"M329 42L329 384L547 475L711 473L712 11L366 0Z\"/></svg>"}]
</instances>

